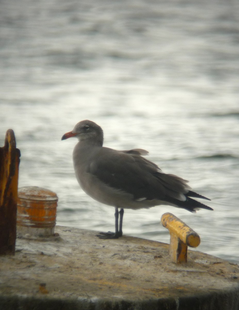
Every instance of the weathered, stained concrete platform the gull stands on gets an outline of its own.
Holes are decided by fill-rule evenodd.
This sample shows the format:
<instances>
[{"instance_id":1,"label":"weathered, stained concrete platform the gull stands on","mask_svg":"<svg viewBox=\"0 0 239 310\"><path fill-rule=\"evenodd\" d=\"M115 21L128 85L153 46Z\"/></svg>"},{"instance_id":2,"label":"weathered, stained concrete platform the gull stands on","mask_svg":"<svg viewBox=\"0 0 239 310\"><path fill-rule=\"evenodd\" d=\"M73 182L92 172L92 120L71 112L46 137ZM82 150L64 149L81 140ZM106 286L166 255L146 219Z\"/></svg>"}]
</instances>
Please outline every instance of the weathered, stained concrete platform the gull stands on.
<instances>
[{"instance_id":1,"label":"weathered, stained concrete platform the gull stands on","mask_svg":"<svg viewBox=\"0 0 239 310\"><path fill-rule=\"evenodd\" d=\"M237 264L189 251L176 265L165 243L55 232L48 241L17 239L15 256L0 257L0 310L239 309Z\"/></svg>"}]
</instances>

